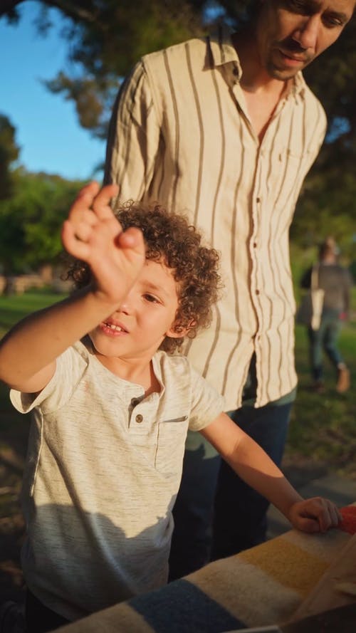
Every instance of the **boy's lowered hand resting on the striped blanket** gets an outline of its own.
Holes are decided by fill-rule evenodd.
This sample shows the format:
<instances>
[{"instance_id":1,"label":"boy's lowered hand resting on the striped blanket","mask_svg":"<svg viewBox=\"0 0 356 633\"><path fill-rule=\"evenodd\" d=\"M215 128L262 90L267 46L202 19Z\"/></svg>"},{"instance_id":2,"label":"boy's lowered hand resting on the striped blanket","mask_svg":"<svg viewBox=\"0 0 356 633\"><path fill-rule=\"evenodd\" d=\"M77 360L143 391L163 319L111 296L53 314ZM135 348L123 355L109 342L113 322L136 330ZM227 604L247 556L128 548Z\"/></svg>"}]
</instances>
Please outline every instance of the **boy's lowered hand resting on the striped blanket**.
<instances>
[{"instance_id":1,"label":"boy's lowered hand resting on the striped blanket","mask_svg":"<svg viewBox=\"0 0 356 633\"><path fill-rule=\"evenodd\" d=\"M323 497L296 501L290 506L288 518L293 528L302 532L326 532L337 528L341 515L335 503Z\"/></svg>"}]
</instances>

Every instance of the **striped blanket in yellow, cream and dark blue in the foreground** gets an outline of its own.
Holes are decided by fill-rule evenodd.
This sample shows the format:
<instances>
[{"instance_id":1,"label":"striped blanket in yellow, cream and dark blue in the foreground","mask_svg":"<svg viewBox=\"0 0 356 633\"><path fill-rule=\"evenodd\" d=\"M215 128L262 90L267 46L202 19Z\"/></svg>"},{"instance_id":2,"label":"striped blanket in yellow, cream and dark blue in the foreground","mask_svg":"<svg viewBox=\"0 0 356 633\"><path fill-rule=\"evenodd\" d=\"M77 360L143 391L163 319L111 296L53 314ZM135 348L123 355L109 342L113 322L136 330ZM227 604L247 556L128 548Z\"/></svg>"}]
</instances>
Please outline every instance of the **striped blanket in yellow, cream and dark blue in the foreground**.
<instances>
[{"instance_id":1,"label":"striped blanket in yellow, cream and dark blue in the foreground","mask_svg":"<svg viewBox=\"0 0 356 633\"><path fill-rule=\"evenodd\" d=\"M222 633L288 622L350 538L290 530L58 633Z\"/></svg>"}]
</instances>

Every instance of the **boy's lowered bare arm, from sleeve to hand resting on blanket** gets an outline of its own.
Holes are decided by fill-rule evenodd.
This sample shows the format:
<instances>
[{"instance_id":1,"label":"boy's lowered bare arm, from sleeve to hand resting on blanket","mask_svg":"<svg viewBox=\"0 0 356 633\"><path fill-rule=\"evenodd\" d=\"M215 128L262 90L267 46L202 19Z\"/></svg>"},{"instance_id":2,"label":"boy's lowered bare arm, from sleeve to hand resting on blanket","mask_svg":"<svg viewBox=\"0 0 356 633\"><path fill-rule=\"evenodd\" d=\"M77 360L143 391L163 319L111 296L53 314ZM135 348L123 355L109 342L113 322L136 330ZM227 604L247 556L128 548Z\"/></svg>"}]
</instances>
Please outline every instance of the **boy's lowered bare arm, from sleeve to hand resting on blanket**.
<instances>
[{"instance_id":1,"label":"boy's lowered bare arm, from sleeve to hand resting on blanket","mask_svg":"<svg viewBox=\"0 0 356 633\"><path fill-rule=\"evenodd\" d=\"M325 532L341 520L337 507L328 499L303 499L261 446L225 413L200 432L241 479L273 503L293 527L303 532Z\"/></svg>"}]
</instances>

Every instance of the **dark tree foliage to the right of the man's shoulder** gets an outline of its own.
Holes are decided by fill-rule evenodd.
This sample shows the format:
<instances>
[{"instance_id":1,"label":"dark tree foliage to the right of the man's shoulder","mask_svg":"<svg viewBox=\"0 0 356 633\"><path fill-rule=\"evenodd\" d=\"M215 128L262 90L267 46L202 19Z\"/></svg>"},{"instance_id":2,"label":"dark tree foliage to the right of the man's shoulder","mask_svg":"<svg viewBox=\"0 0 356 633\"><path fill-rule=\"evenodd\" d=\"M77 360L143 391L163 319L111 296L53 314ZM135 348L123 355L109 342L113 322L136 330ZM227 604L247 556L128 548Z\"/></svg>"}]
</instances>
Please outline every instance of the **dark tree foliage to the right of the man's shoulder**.
<instances>
[{"instance_id":1,"label":"dark tree foliage to the right of the man's shoulder","mask_svg":"<svg viewBox=\"0 0 356 633\"><path fill-rule=\"evenodd\" d=\"M333 234L348 261L356 259L356 22L305 70L328 116L328 134L305 179L290 236L300 246Z\"/></svg>"}]
</instances>

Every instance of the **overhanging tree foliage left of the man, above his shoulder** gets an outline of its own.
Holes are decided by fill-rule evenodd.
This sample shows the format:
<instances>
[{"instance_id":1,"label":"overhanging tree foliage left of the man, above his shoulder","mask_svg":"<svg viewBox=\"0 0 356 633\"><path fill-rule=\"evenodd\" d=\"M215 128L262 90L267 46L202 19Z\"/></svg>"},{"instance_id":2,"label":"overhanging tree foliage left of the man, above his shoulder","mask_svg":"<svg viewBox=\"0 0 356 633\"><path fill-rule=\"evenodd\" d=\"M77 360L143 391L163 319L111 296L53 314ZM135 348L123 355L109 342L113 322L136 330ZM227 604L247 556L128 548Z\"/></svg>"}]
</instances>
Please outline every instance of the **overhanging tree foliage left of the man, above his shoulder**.
<instances>
[{"instance_id":1,"label":"overhanging tree foliage left of the man, above his shoulder","mask_svg":"<svg viewBox=\"0 0 356 633\"><path fill-rule=\"evenodd\" d=\"M1 6L12 23L20 19L24 0L6 0ZM61 71L48 81L53 93L73 100L80 125L105 138L108 119L120 80L143 54L201 33L199 12L204 2L181 0L43 0L38 3L38 30L53 26L59 9L66 17L63 38L70 43L72 74ZM78 66L83 72L78 74Z\"/></svg>"}]
</instances>

